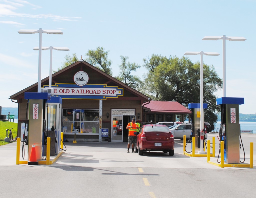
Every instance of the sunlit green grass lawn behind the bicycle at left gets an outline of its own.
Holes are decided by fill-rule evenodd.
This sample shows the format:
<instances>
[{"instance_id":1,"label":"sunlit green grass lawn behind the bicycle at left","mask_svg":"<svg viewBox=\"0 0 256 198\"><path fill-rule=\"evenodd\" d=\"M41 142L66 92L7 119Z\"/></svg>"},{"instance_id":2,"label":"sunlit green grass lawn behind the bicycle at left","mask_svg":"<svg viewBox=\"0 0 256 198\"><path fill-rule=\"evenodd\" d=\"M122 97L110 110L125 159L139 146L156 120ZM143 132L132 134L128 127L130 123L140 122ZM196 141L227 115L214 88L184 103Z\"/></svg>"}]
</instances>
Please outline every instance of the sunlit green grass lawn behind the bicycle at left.
<instances>
[{"instance_id":1,"label":"sunlit green grass lawn behind the bicycle at left","mask_svg":"<svg viewBox=\"0 0 256 198\"><path fill-rule=\"evenodd\" d=\"M6 138L6 129L13 128L12 134L13 134L13 139L15 140L15 137L17 136L17 127L18 127L18 123L0 120L0 146L9 144L12 142L12 141L11 142L4 141L4 138ZM8 135L9 135L9 130L8 130Z\"/></svg>"}]
</instances>

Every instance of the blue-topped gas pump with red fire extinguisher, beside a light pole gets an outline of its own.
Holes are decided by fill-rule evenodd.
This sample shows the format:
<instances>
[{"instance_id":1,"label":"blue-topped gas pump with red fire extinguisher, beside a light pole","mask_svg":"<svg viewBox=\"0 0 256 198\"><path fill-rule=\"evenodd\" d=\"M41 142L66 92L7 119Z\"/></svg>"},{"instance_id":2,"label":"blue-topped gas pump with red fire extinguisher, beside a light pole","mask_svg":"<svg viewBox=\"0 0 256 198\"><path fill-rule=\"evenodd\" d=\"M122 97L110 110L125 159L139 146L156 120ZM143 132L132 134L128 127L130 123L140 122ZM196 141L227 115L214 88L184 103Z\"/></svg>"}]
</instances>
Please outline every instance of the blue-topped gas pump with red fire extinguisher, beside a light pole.
<instances>
[{"instance_id":1,"label":"blue-topped gas pump with red fire extinguisher, beside a light pole","mask_svg":"<svg viewBox=\"0 0 256 198\"><path fill-rule=\"evenodd\" d=\"M208 104L204 103L203 108L206 109L208 107ZM200 103L189 103L188 108L192 112L191 116L191 136L195 137L195 152L200 151L200 144L204 140L204 130L200 129ZM202 118L204 119L204 115L202 115ZM204 120L203 120L204 123ZM191 138L192 138L191 137ZM202 145L204 148L204 144ZM191 144L192 148L192 144Z\"/></svg>"}]
</instances>

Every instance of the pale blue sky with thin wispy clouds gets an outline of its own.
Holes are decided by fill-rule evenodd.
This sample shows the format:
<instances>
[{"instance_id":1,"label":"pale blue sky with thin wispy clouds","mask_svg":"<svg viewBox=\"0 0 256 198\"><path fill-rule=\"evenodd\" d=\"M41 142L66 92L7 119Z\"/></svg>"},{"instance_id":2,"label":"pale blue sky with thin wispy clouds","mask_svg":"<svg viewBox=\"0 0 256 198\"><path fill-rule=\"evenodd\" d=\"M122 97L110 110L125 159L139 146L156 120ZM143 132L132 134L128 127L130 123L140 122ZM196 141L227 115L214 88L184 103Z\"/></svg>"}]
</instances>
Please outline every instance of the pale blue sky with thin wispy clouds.
<instances>
[{"instance_id":1,"label":"pale blue sky with thin wispy clouds","mask_svg":"<svg viewBox=\"0 0 256 198\"><path fill-rule=\"evenodd\" d=\"M19 34L21 29L61 30L63 35L42 34L42 47L68 47L52 52L52 69L65 56L86 58L89 49L109 50L113 75L119 74L122 56L143 65L152 54L177 56L186 51L218 52L203 56L223 78L222 40L205 36L244 37L226 40L226 97L243 97L240 113L255 114L256 0L178 1L22 1L0 0L0 106L18 107L11 95L38 82L39 34ZM192 62L200 55L187 55ZM49 76L50 50L42 51L41 79ZM145 73L144 67L136 75ZM223 97L223 91L216 92Z\"/></svg>"}]
</instances>

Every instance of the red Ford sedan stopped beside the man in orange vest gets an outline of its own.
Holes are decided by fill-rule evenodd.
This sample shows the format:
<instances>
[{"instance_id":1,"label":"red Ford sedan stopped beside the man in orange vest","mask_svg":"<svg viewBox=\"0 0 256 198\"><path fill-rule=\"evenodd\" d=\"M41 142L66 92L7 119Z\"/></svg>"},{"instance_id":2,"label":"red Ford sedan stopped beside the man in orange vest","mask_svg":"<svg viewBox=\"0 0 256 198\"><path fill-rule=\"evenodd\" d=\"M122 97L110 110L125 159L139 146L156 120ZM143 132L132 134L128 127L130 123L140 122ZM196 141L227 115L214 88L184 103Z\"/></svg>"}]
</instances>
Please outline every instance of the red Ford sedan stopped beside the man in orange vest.
<instances>
[{"instance_id":1,"label":"red Ford sedan stopped beside the man in orange vest","mask_svg":"<svg viewBox=\"0 0 256 198\"><path fill-rule=\"evenodd\" d=\"M169 152L170 156L174 155L174 137L166 125L146 124L134 134L137 135L135 152L139 155L146 151L163 151Z\"/></svg>"}]
</instances>

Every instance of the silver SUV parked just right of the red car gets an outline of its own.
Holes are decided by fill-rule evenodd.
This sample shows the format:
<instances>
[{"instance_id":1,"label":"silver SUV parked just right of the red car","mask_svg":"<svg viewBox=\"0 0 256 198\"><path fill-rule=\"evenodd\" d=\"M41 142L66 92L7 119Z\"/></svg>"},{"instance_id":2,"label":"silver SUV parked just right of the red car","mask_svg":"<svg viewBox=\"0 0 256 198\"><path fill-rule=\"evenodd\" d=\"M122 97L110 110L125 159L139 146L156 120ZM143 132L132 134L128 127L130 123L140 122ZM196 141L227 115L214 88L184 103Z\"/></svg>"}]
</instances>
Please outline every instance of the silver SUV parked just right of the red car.
<instances>
[{"instance_id":1,"label":"silver SUV parked just right of the red car","mask_svg":"<svg viewBox=\"0 0 256 198\"><path fill-rule=\"evenodd\" d=\"M188 140L189 136L191 135L191 124L190 123L178 124L176 127L169 128L169 130L172 132L175 139L183 140L183 136L186 135L186 140ZM206 128L205 128L205 138L207 139Z\"/></svg>"}]
</instances>

